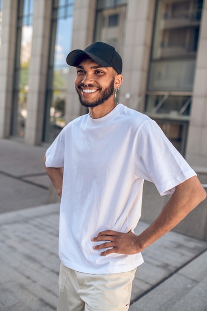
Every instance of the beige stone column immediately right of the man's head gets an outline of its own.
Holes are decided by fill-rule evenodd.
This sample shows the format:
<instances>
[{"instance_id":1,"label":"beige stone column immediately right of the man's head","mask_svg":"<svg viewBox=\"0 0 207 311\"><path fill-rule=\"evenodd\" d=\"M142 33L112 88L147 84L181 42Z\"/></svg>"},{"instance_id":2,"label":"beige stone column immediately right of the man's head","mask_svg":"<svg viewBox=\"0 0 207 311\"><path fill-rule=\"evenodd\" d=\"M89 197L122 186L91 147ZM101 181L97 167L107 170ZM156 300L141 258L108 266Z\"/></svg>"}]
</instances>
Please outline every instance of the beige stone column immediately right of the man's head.
<instances>
[{"instance_id":1,"label":"beige stone column immediately right of the man's head","mask_svg":"<svg viewBox=\"0 0 207 311\"><path fill-rule=\"evenodd\" d=\"M122 55L124 81L120 87L119 101L139 111L144 110L154 10L154 0L128 2L127 36Z\"/></svg>"}]
</instances>

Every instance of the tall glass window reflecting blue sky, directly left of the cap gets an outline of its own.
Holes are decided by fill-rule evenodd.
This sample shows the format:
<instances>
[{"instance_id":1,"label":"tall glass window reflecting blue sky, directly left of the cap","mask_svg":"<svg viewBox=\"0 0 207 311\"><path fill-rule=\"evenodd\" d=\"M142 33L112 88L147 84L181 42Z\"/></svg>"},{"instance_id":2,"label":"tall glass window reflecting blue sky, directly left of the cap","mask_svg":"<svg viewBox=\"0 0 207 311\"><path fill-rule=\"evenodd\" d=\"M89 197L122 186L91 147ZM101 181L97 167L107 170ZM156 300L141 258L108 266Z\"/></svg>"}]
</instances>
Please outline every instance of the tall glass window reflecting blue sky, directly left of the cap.
<instances>
[{"instance_id":1,"label":"tall glass window reflecting blue sky, directly left of the cap","mask_svg":"<svg viewBox=\"0 0 207 311\"><path fill-rule=\"evenodd\" d=\"M52 142L65 126L65 103L69 74L66 58L71 50L72 14L72 0L53 1L43 137L45 142Z\"/></svg>"}]
</instances>

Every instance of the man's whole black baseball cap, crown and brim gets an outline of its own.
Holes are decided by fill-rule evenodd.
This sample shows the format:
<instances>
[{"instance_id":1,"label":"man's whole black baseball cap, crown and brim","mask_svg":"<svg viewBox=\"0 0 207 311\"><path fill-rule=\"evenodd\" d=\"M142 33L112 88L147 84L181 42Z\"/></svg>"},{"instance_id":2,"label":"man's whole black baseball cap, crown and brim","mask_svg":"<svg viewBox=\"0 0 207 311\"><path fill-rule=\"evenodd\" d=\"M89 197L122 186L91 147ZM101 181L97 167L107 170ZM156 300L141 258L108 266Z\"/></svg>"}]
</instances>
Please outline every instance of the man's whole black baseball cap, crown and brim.
<instances>
[{"instance_id":1,"label":"man's whole black baseball cap, crown and brim","mask_svg":"<svg viewBox=\"0 0 207 311\"><path fill-rule=\"evenodd\" d=\"M70 66L78 66L83 60L91 58L103 67L113 67L118 74L122 73L122 58L115 48L104 42L95 42L84 51L73 50L67 56L66 62Z\"/></svg>"}]
</instances>

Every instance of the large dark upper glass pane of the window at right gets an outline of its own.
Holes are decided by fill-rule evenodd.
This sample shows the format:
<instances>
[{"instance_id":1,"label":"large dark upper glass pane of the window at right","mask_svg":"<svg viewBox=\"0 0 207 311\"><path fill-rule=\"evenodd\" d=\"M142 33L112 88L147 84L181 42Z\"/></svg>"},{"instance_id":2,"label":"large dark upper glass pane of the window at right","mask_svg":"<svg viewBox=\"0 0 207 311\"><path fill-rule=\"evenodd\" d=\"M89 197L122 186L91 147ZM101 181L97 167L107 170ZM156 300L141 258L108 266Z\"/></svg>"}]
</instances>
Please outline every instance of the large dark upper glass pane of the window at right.
<instances>
[{"instance_id":1,"label":"large dark upper glass pane of the window at right","mask_svg":"<svg viewBox=\"0 0 207 311\"><path fill-rule=\"evenodd\" d=\"M203 0L158 0L148 90L192 91Z\"/></svg>"}]
</instances>

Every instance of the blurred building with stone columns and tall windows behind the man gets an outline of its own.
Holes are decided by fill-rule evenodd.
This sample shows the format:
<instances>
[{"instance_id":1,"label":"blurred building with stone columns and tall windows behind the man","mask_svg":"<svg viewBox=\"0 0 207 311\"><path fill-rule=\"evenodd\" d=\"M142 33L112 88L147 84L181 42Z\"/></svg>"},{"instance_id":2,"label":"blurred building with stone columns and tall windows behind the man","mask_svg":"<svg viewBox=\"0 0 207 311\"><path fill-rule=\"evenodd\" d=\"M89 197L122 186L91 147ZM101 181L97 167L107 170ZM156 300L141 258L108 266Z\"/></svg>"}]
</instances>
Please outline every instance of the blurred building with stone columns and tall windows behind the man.
<instances>
[{"instance_id":1,"label":"blurred building with stone columns and tall windows behind the man","mask_svg":"<svg viewBox=\"0 0 207 311\"><path fill-rule=\"evenodd\" d=\"M118 101L207 172L207 0L0 0L0 138L51 143L87 112L66 57L95 41L122 56Z\"/></svg>"}]
</instances>

